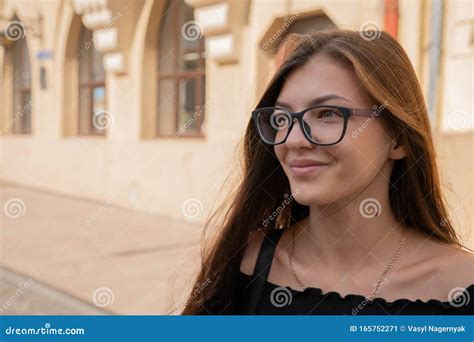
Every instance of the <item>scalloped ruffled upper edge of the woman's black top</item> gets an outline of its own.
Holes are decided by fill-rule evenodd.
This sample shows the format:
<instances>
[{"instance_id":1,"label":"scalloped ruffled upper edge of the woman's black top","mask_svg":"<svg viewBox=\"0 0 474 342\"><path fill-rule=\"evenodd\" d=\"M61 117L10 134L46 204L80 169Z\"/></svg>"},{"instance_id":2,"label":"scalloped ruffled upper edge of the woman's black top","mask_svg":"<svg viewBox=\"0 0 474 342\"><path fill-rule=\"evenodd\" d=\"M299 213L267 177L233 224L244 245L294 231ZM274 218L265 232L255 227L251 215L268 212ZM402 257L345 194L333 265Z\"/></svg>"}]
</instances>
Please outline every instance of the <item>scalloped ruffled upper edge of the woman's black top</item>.
<instances>
[{"instance_id":1,"label":"scalloped ruffled upper edge of the woman's black top","mask_svg":"<svg viewBox=\"0 0 474 342\"><path fill-rule=\"evenodd\" d=\"M251 275L248 275L248 274L245 274L243 272L240 271L240 275L246 279L252 279L253 276ZM304 295L317 295L317 296L323 296L325 298L329 298L329 299L333 299L333 300L339 300L339 301L357 301L357 302L362 302L362 301L367 301L366 297L363 296L363 295L359 295L359 294L346 294L345 296L342 296L339 292L336 292L336 291L329 291L329 292L326 292L326 293L323 293L323 290L321 288L318 288L318 287L307 287L305 288L303 291L301 290L295 290L289 286L281 286L281 285L277 285L277 284L274 284L274 283L271 283L269 281L265 281L265 283L269 286L268 287L265 287L265 291L273 291L275 288L286 288L288 289L294 296L304 296ZM460 295L464 295L464 293L467 292L467 298L471 298L471 297L474 297L474 284L471 284L469 285L467 288L464 289L464 291L462 292L462 294L459 294L458 296ZM458 298L458 297L456 297ZM439 299L428 299L428 300L422 300L422 299L415 299L415 300L412 300L412 299L408 299L408 298L399 298L399 299L396 299L394 301L387 301L385 298L383 297L375 297L372 301L372 303L379 303L379 304L382 304L382 305L386 305L386 306L393 306L393 305L397 305L397 304L422 304L422 305L435 305L435 306L441 306L441 307L455 307L455 306L451 306L451 303L452 301L441 301Z\"/></svg>"}]
</instances>

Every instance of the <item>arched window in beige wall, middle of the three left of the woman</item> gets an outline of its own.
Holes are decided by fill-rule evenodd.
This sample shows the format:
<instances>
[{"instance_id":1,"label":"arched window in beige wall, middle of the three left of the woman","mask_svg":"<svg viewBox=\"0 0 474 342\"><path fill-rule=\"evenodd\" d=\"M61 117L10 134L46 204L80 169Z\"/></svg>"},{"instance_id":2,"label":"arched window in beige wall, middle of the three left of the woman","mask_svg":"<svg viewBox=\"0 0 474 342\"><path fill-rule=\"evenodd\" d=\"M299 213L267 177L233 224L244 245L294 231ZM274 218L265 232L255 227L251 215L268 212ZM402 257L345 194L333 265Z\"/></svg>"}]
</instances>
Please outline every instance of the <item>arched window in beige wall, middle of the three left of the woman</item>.
<instances>
[{"instance_id":1,"label":"arched window in beige wall, middle of the three left of the woman","mask_svg":"<svg viewBox=\"0 0 474 342\"><path fill-rule=\"evenodd\" d=\"M102 56L94 48L92 31L83 25L79 34L79 51L78 134L105 135L103 125L97 120L106 109Z\"/></svg>"}]
</instances>

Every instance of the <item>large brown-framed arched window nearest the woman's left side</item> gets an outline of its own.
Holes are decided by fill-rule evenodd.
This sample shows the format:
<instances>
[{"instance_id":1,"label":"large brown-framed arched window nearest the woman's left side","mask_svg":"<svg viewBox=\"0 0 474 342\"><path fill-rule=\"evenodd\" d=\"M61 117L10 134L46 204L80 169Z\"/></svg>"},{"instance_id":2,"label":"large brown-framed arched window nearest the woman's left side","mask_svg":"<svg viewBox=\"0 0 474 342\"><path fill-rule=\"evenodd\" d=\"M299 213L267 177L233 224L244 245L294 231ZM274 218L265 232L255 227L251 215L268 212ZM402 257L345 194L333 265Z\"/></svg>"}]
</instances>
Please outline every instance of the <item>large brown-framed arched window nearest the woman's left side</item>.
<instances>
[{"instance_id":1,"label":"large brown-framed arched window nearest the woman's left side","mask_svg":"<svg viewBox=\"0 0 474 342\"><path fill-rule=\"evenodd\" d=\"M158 42L158 136L203 136L204 37L184 0L167 1Z\"/></svg>"}]
</instances>

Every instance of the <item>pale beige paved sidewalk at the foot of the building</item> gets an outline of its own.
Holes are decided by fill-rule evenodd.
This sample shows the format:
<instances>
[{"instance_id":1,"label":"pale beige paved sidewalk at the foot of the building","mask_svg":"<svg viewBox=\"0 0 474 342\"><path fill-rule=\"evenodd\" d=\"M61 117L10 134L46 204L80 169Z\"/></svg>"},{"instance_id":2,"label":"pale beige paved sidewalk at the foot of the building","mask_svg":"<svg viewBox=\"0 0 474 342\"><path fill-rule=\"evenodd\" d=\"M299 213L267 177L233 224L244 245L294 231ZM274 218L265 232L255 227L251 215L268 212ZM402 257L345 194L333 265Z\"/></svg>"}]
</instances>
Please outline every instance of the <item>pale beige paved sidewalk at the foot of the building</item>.
<instances>
[{"instance_id":1,"label":"pale beige paved sidewalk at the foot of the building","mask_svg":"<svg viewBox=\"0 0 474 342\"><path fill-rule=\"evenodd\" d=\"M0 184L0 200L0 307L26 286L12 290L7 273L77 298L76 308L52 303L48 314L166 314L184 303L200 225L10 184ZM52 297L60 296L41 300ZM30 309L23 313L41 313Z\"/></svg>"}]
</instances>

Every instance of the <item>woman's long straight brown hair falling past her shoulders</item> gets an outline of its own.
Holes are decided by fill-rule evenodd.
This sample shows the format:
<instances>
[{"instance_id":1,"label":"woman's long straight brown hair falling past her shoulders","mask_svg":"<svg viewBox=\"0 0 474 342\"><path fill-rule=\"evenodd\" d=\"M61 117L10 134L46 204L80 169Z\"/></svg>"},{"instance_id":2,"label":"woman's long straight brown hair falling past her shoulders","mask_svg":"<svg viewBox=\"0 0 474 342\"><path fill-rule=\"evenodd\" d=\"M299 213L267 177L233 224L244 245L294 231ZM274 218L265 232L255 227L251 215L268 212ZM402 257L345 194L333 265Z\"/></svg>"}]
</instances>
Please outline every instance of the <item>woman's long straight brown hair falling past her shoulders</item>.
<instances>
[{"instance_id":1,"label":"woman's long straight brown hair falling past her shoulders","mask_svg":"<svg viewBox=\"0 0 474 342\"><path fill-rule=\"evenodd\" d=\"M273 106L285 77L315 54L350 66L364 89L386 106L389 113L384 122L407 151L404 159L395 162L390 177L390 204L397 220L440 242L462 247L442 195L422 90L401 45L378 31L330 30L292 38L292 51L257 107ZM195 280L198 294L193 289L183 314L232 313L249 235L287 227L309 214L309 207L292 201L277 219L263 224L291 190L273 148L261 142L250 118L243 139L242 167L240 184L206 223L208 228L216 215L222 214L210 248L203 247L202 267Z\"/></svg>"}]
</instances>

